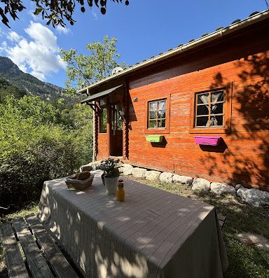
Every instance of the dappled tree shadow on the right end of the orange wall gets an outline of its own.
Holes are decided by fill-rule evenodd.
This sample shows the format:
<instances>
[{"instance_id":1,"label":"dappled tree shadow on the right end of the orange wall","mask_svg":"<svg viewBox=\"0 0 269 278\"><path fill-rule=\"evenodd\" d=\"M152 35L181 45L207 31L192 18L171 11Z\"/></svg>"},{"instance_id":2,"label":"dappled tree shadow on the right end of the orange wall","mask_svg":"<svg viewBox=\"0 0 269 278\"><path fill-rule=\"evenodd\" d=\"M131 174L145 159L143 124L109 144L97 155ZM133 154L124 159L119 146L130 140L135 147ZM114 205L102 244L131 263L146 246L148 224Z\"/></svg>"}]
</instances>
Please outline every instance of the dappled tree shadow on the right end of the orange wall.
<instances>
[{"instance_id":1,"label":"dappled tree shadow on the right end of the orange wall","mask_svg":"<svg viewBox=\"0 0 269 278\"><path fill-rule=\"evenodd\" d=\"M228 149L221 163L212 153L201 162L210 163L210 175L226 172L232 184L269 190L269 51L244 57L235 62L238 66L242 72L233 83ZM216 74L211 88L223 85L229 82Z\"/></svg>"}]
</instances>

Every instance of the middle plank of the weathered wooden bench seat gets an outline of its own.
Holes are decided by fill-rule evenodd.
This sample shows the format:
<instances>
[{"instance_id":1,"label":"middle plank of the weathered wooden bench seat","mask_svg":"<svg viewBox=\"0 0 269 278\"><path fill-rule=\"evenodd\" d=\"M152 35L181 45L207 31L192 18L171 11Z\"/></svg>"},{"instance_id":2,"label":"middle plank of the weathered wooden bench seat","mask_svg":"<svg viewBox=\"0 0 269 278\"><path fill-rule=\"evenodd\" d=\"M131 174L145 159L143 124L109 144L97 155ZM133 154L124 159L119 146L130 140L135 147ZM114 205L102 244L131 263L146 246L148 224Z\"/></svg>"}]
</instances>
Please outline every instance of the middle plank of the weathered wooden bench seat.
<instances>
[{"instance_id":1,"label":"middle plank of the weathered wooden bench seat","mask_svg":"<svg viewBox=\"0 0 269 278\"><path fill-rule=\"evenodd\" d=\"M22 218L18 218L13 221L13 225L18 238L20 239L22 250L25 252L25 257L29 265L29 270L32 272L32 277L53 278L53 273L50 271L50 268L36 245L34 237L28 230L25 221Z\"/></svg>"}]
</instances>

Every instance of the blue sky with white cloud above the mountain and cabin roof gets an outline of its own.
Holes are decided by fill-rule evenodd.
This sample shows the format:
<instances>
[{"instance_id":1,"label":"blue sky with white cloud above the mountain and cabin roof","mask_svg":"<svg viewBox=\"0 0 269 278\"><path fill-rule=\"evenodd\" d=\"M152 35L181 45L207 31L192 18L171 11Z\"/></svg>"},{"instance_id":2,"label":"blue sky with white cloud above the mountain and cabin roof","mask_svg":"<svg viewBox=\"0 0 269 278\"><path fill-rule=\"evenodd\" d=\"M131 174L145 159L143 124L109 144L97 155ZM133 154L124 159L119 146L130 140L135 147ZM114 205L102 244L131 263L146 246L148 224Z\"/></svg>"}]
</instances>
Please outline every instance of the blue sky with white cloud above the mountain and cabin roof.
<instances>
[{"instance_id":1,"label":"blue sky with white cloud above the mountain and cabin roof","mask_svg":"<svg viewBox=\"0 0 269 278\"><path fill-rule=\"evenodd\" d=\"M64 30L47 27L32 15L34 4L24 3L27 11L19 13L20 20L10 20L11 29L0 25L0 55L11 57L23 71L62 87L66 78L59 48L86 54L87 43L114 36L120 62L131 65L266 9L265 0L130 0L129 6L108 1L106 15L96 7L86 7L84 14L74 14L75 25L67 24Z\"/></svg>"}]
</instances>

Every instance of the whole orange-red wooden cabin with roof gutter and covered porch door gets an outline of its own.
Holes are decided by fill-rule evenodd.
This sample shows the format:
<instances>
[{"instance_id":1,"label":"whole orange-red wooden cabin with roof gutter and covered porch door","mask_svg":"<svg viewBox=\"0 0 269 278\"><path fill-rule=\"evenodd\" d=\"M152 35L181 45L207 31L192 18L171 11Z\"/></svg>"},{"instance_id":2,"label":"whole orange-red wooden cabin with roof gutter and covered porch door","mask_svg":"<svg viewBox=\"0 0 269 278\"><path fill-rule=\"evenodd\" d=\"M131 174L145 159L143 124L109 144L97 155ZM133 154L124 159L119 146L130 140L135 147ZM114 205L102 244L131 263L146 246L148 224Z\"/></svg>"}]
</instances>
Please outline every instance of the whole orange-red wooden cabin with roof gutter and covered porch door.
<instances>
[{"instance_id":1,"label":"whole orange-red wooden cabin with roof gutter and covered porch door","mask_svg":"<svg viewBox=\"0 0 269 278\"><path fill-rule=\"evenodd\" d=\"M268 30L265 11L81 89L97 160L269 190Z\"/></svg>"}]
</instances>

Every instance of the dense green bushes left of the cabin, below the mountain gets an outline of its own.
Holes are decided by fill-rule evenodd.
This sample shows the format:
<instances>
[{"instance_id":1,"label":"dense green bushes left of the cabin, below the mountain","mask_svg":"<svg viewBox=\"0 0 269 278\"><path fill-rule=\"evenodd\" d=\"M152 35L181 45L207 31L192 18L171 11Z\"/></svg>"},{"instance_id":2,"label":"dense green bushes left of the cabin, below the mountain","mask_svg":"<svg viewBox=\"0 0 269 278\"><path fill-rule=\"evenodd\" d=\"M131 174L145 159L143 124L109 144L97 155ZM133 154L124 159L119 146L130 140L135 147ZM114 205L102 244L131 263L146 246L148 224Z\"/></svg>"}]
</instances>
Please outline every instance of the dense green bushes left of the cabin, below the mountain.
<instances>
[{"instance_id":1,"label":"dense green bushes left of the cabin, below the mountain","mask_svg":"<svg viewBox=\"0 0 269 278\"><path fill-rule=\"evenodd\" d=\"M70 175L90 161L87 109L76 106L63 119L38 97L8 97L0 104L0 205L39 198L43 181Z\"/></svg>"}]
</instances>

